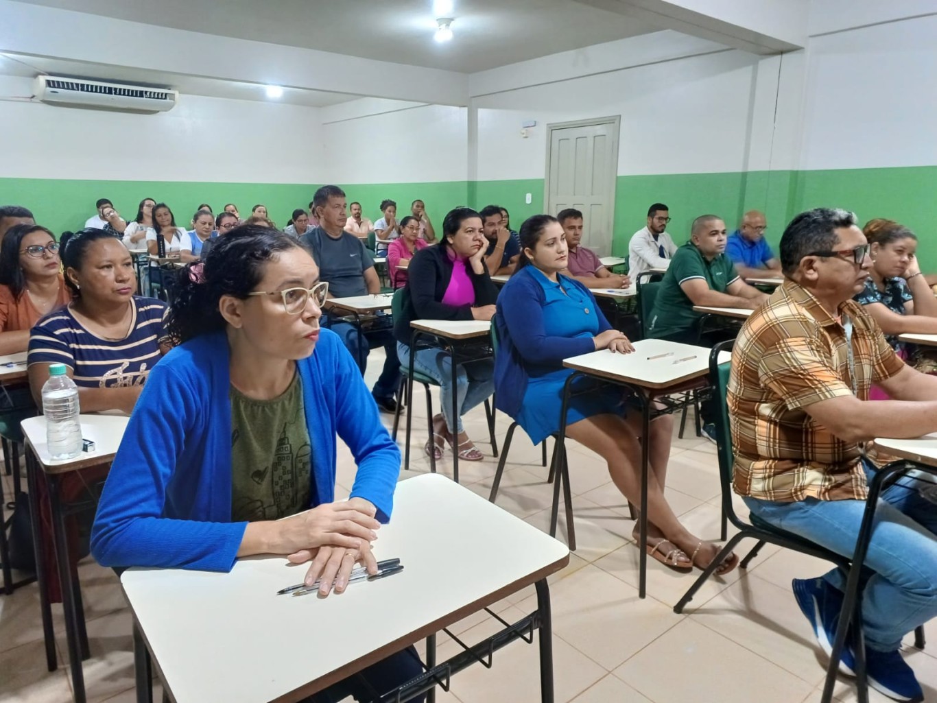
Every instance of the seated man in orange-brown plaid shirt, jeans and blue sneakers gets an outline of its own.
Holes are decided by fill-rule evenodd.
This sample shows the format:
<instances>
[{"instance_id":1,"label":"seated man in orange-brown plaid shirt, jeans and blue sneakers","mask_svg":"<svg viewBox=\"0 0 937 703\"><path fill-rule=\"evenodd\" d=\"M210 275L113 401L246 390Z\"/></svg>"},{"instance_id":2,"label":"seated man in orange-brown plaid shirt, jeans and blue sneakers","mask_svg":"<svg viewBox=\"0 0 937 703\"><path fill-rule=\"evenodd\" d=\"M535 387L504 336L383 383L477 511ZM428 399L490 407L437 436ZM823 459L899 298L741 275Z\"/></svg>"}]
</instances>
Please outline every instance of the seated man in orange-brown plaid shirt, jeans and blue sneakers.
<instances>
[{"instance_id":1,"label":"seated man in orange-brown plaid shirt, jeans and blue sneakers","mask_svg":"<svg viewBox=\"0 0 937 703\"><path fill-rule=\"evenodd\" d=\"M871 267L854 215L820 208L795 217L781 266L786 280L742 326L732 354L735 489L753 515L852 557L876 471L863 446L937 430L937 378L902 363L852 300ZM870 402L872 383L896 399ZM901 638L937 615L937 510L920 486L902 478L882 494L862 595L869 682L903 701L923 694ZM793 582L827 654L844 585L836 569ZM840 669L854 662L847 648Z\"/></svg>"}]
</instances>

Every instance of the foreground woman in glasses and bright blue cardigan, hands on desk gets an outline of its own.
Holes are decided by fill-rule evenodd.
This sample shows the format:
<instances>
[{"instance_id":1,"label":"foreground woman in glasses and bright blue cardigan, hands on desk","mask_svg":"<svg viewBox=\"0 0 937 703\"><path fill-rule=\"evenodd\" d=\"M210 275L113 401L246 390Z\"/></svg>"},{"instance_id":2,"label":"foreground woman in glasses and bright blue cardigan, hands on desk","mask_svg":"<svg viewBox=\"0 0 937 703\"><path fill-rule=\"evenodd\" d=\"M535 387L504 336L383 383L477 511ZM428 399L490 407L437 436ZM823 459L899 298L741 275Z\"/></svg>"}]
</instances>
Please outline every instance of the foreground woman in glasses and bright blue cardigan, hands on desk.
<instances>
[{"instance_id":1,"label":"foreground woman in glasses and bright blue cardigan, hands on desk","mask_svg":"<svg viewBox=\"0 0 937 703\"><path fill-rule=\"evenodd\" d=\"M344 591L355 563L376 571L370 543L391 516L400 452L354 359L320 329L328 284L296 240L246 226L180 273L168 322L180 346L130 417L92 554L220 572L276 554L311 561L305 583L321 576L322 595ZM349 501L335 501L337 437L358 463ZM408 648L364 677L383 692L420 672ZM358 681L336 686L312 700L363 695Z\"/></svg>"}]
</instances>

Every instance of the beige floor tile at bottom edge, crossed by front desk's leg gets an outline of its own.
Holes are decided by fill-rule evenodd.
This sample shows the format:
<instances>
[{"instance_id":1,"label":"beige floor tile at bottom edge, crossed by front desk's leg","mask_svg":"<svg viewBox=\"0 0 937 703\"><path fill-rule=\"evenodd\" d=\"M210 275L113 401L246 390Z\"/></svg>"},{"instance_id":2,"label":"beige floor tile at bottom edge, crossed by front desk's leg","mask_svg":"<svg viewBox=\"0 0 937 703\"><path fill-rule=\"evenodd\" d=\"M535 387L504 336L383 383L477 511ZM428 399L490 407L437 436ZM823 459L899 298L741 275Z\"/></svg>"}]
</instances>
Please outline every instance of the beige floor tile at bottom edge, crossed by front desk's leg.
<instances>
[{"instance_id":1,"label":"beige floor tile at bottom edge, crossed by front desk's leg","mask_svg":"<svg viewBox=\"0 0 937 703\"><path fill-rule=\"evenodd\" d=\"M465 634L472 644L490 630L481 625ZM475 636L478 629L480 636ZM452 643L451 643L452 644ZM441 650L442 648L440 648ZM447 650L449 651L449 650ZM574 649L562 638L553 637L553 672L557 703L566 703L605 675L605 670ZM540 649L538 636L532 645L515 641L496 651L490 669L469 666L453 678L452 691L463 703L539 703Z\"/></svg>"}]
</instances>

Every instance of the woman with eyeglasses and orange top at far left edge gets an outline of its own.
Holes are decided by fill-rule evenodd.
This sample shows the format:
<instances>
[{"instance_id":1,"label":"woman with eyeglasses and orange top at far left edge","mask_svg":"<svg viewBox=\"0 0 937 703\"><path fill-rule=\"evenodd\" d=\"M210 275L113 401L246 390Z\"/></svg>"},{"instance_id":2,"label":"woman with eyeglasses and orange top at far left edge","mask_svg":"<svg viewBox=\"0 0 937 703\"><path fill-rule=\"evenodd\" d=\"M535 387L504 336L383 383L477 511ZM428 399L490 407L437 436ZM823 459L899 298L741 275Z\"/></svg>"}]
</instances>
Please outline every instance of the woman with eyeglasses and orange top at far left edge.
<instances>
[{"instance_id":1,"label":"woman with eyeglasses and orange top at far left edge","mask_svg":"<svg viewBox=\"0 0 937 703\"><path fill-rule=\"evenodd\" d=\"M29 330L71 300L59 246L39 225L16 225L0 245L0 354L25 352Z\"/></svg>"}]
</instances>

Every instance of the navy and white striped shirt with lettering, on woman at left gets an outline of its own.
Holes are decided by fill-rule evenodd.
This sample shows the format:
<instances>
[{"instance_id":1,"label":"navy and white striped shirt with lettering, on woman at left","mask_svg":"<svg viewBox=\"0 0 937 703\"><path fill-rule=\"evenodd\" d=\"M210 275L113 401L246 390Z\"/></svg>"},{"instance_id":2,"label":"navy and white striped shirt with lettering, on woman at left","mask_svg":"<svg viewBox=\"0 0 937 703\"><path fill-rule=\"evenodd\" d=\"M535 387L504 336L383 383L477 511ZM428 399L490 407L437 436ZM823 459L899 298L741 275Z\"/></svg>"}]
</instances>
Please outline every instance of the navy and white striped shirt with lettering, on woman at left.
<instances>
[{"instance_id":1,"label":"navy and white striped shirt with lettering, on woman at left","mask_svg":"<svg viewBox=\"0 0 937 703\"><path fill-rule=\"evenodd\" d=\"M166 337L166 304L133 296L130 333L123 339L97 337L82 327L71 306L51 312L36 323L29 335L27 363L65 364L72 380L85 388L120 388L142 385L160 359L159 340Z\"/></svg>"}]
</instances>

